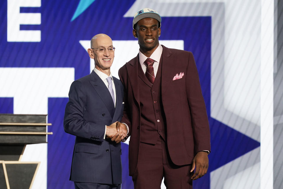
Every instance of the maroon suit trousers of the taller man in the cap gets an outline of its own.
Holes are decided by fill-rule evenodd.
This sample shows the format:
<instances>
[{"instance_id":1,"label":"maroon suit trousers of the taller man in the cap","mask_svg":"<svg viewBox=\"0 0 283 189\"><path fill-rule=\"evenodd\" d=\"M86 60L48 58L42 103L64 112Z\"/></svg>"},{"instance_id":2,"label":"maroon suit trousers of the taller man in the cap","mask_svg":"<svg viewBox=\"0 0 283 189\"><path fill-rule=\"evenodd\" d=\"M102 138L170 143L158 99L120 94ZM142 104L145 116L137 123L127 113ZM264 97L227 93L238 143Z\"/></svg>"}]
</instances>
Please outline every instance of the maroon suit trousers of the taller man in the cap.
<instances>
[{"instance_id":1,"label":"maroon suit trousers of the taller man in the cap","mask_svg":"<svg viewBox=\"0 0 283 189\"><path fill-rule=\"evenodd\" d=\"M167 145L160 137L155 145L141 142L136 171L132 175L135 189L160 189L164 176L167 189L192 189L191 165L178 166L170 159Z\"/></svg>"}]
</instances>

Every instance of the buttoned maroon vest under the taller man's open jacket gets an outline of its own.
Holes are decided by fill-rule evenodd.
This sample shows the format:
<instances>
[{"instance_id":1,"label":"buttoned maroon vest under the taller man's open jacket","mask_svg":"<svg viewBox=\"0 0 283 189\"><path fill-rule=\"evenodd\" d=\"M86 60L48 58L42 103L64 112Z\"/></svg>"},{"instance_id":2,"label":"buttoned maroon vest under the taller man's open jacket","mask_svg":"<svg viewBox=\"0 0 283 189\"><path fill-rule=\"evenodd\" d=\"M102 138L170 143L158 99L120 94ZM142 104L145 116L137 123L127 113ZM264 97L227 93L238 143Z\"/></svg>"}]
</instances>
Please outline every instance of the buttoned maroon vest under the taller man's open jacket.
<instances>
[{"instance_id":1,"label":"buttoned maroon vest under the taller man's open jacket","mask_svg":"<svg viewBox=\"0 0 283 189\"><path fill-rule=\"evenodd\" d=\"M161 136L166 140L165 114L161 99L161 68L162 56L160 58L157 75L154 83L150 83L139 63L138 84L141 107L141 142L156 144Z\"/></svg>"}]
</instances>

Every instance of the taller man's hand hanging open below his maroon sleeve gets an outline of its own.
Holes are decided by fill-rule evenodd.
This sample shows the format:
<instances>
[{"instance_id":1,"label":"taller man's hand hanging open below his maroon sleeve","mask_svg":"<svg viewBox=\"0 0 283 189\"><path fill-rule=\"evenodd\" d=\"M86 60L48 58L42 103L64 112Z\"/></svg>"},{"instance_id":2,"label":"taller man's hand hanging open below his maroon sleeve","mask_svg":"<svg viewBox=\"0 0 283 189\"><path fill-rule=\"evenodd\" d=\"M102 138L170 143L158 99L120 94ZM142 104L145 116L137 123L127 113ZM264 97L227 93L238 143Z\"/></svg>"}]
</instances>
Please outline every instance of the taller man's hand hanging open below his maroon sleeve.
<instances>
[{"instance_id":1,"label":"taller man's hand hanging open below his maroon sleeve","mask_svg":"<svg viewBox=\"0 0 283 189\"><path fill-rule=\"evenodd\" d=\"M192 160L192 169L190 172L193 172L195 169L195 174L192 175L192 180L196 180L207 173L208 169L208 154L207 152L198 152L195 155L195 158Z\"/></svg>"}]
</instances>

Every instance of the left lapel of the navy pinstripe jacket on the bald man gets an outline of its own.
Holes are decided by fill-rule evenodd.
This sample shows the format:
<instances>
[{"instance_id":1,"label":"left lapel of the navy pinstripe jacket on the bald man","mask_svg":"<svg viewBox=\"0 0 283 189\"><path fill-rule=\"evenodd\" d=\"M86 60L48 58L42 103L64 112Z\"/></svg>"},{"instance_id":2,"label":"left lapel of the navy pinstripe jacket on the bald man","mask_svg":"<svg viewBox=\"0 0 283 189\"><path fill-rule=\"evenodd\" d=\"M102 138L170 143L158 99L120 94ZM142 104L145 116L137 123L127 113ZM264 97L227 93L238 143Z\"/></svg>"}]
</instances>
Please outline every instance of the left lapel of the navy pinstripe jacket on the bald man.
<instances>
[{"instance_id":1,"label":"left lapel of the navy pinstripe jacket on the bald man","mask_svg":"<svg viewBox=\"0 0 283 189\"><path fill-rule=\"evenodd\" d=\"M91 72L90 83L93 86L93 88L96 90L100 98L102 99L103 103L107 107L111 116L113 117L115 107L114 107L114 103L113 103L111 94L109 93L108 88L106 87L104 82L94 71Z\"/></svg>"}]
</instances>

